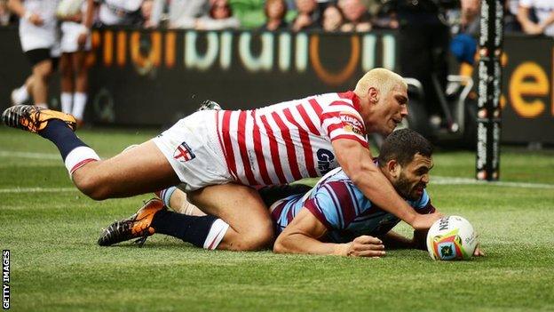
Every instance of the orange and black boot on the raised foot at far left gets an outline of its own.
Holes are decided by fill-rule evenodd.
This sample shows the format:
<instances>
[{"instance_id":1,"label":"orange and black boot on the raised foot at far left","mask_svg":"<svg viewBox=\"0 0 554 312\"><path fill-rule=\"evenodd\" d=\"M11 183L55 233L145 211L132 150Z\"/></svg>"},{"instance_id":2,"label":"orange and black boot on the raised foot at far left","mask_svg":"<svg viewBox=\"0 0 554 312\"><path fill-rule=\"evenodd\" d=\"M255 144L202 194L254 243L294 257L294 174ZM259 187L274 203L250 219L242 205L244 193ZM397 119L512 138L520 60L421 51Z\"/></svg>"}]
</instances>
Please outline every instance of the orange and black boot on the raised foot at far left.
<instances>
[{"instance_id":1,"label":"orange and black boot on the raised foot at far left","mask_svg":"<svg viewBox=\"0 0 554 312\"><path fill-rule=\"evenodd\" d=\"M43 130L52 119L63 121L73 131L77 127L74 116L34 105L12 106L6 108L2 114L4 124L33 133Z\"/></svg>"}]
</instances>

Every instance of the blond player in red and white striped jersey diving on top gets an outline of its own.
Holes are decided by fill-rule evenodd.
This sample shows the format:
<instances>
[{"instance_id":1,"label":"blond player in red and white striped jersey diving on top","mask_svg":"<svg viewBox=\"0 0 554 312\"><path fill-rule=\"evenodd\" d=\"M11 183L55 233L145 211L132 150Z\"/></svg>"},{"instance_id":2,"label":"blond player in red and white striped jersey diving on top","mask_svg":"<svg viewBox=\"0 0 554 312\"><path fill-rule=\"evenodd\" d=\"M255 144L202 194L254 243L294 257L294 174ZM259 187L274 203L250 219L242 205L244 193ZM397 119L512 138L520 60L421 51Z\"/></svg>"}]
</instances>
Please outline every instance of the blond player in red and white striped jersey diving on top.
<instances>
[{"instance_id":1,"label":"blond player in red and white striped jersey diving on top","mask_svg":"<svg viewBox=\"0 0 554 312\"><path fill-rule=\"evenodd\" d=\"M51 140L83 194L102 200L178 185L208 213L187 216L195 244L202 246L202 237L228 225L226 235L233 239L227 249L244 251L265 247L274 234L267 207L252 187L322 176L339 165L372 203L413 228L430 228L439 214L416 213L372 164L368 149L368 133L387 136L407 115L407 84L392 71L375 68L352 92L194 113L107 160L75 135L73 116L15 106L2 119Z\"/></svg>"}]
</instances>

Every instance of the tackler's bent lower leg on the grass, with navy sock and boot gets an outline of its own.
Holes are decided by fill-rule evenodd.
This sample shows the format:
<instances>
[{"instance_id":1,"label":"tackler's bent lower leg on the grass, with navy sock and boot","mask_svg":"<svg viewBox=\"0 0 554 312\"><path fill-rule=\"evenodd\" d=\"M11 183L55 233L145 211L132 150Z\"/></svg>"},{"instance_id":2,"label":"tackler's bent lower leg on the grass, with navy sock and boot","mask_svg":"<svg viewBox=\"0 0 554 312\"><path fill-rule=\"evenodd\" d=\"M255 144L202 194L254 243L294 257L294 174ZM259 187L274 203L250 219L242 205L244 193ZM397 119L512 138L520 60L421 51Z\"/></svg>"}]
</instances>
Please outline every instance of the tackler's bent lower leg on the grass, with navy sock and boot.
<instances>
[{"instance_id":1,"label":"tackler's bent lower leg on the grass, with navy sock and boot","mask_svg":"<svg viewBox=\"0 0 554 312\"><path fill-rule=\"evenodd\" d=\"M257 192L248 187L225 184L193 192L197 202L207 205L206 215L175 187L156 193L130 218L115 221L99 237L107 246L139 238L143 244L154 233L173 236L205 249L252 251L273 242L273 223ZM258 200L260 202L258 202ZM170 212L171 205L179 212ZM203 208L202 208L203 209Z\"/></svg>"}]
</instances>

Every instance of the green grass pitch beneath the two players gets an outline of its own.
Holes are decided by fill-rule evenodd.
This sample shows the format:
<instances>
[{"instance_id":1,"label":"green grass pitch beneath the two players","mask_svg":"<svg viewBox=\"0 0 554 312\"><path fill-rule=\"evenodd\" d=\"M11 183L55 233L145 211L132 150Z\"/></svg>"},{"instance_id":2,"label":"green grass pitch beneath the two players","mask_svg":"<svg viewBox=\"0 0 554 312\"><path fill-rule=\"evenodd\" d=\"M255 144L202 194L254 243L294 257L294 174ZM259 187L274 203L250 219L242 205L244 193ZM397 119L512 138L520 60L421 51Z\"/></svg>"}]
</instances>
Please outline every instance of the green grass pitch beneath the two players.
<instances>
[{"instance_id":1,"label":"green grass pitch beneath the two players","mask_svg":"<svg viewBox=\"0 0 554 312\"><path fill-rule=\"evenodd\" d=\"M100 156L154 132L89 130ZM434 262L209 252L153 236L99 247L101 228L150 196L94 202L78 193L51 143L0 128L0 247L12 252L13 311L554 310L554 153L503 149L502 180L471 182L471 152L437 152L429 192L471 220L487 257ZM433 179L435 183L433 183ZM409 234L406 225L397 229Z\"/></svg>"}]
</instances>

